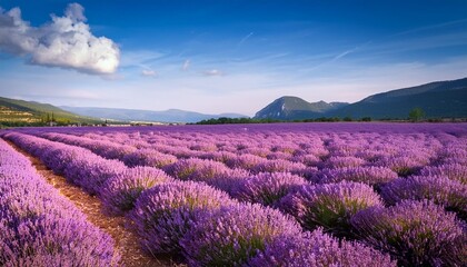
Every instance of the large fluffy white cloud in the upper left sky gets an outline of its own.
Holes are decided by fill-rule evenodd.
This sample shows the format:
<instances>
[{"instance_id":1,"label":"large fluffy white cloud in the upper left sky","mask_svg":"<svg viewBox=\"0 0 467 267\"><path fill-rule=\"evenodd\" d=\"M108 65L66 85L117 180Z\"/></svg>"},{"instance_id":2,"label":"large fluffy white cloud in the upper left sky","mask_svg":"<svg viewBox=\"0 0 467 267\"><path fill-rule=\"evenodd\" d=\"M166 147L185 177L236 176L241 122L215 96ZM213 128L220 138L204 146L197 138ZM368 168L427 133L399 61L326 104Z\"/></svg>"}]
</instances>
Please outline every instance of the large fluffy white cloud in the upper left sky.
<instances>
[{"instance_id":1,"label":"large fluffy white cloud in the upper left sky","mask_svg":"<svg viewBox=\"0 0 467 267\"><path fill-rule=\"evenodd\" d=\"M19 8L0 9L0 50L27 55L34 65L113 73L120 61L119 48L91 33L83 11L80 4L70 3L63 17L52 14L50 23L36 28L22 20Z\"/></svg>"}]
</instances>

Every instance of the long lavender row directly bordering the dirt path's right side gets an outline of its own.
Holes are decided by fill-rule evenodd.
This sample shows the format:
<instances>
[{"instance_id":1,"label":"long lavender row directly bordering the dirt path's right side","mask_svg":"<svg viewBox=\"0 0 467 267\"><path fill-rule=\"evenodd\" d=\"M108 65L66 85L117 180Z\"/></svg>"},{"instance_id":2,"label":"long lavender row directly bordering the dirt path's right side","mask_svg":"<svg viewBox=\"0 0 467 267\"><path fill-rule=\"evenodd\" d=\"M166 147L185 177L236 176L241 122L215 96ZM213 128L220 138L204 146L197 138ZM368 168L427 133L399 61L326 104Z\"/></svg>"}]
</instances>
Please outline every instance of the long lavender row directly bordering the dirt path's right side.
<instances>
[{"instance_id":1,"label":"long lavender row directly bordering the dirt path's right side","mask_svg":"<svg viewBox=\"0 0 467 267\"><path fill-rule=\"evenodd\" d=\"M339 241L320 229L304 233L278 210L238 202L200 182L171 181L148 167L125 169L89 150L32 136L4 137L106 202L110 198L120 210L131 209L131 227L152 254L182 254L191 266L395 265L377 250Z\"/></svg>"}]
</instances>

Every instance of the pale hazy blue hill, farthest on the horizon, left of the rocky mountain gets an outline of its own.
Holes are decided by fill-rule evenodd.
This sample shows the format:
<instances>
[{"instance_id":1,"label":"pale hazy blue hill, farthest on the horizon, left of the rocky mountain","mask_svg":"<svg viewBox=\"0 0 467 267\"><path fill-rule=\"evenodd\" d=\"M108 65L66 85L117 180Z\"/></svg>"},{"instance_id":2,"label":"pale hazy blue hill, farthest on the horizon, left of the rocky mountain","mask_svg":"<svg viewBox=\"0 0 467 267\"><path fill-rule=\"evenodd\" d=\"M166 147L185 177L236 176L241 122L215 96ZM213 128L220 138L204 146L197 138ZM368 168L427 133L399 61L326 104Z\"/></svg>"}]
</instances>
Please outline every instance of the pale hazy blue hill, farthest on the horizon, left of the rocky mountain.
<instances>
[{"instance_id":1,"label":"pale hazy blue hill, farthest on the horizon, left of the rocky mountain","mask_svg":"<svg viewBox=\"0 0 467 267\"><path fill-rule=\"evenodd\" d=\"M85 108L85 107L61 107L64 110L81 116L93 116L101 119L125 120L125 121L158 121L158 122L197 122L205 119L229 117L247 117L238 113L206 115L180 109L165 111L139 110L139 109L115 109L115 108Z\"/></svg>"}]
</instances>

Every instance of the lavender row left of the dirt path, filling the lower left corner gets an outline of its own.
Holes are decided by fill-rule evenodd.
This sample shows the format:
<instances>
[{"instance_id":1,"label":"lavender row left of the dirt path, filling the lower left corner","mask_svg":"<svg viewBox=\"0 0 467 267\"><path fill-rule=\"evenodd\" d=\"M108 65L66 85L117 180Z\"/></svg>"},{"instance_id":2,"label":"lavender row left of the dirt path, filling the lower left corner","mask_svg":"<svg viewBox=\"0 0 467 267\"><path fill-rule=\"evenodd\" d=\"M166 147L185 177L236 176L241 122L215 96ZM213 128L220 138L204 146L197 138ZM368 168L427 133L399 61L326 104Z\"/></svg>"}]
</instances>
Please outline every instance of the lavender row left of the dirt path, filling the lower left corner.
<instances>
[{"instance_id":1,"label":"lavender row left of the dirt path, filling the lower left corner","mask_svg":"<svg viewBox=\"0 0 467 267\"><path fill-rule=\"evenodd\" d=\"M113 240L0 139L0 266L117 266Z\"/></svg>"}]
</instances>

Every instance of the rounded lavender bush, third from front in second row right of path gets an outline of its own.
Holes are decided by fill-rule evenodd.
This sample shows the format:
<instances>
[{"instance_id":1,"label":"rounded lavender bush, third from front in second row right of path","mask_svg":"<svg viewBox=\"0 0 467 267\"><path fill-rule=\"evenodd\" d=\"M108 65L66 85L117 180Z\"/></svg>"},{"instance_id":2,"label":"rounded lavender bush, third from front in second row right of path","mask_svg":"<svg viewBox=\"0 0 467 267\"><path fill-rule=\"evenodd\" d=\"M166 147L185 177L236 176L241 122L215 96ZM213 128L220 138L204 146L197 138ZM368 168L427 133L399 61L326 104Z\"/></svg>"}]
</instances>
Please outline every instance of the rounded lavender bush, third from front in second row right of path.
<instances>
[{"instance_id":1,"label":"rounded lavender bush, third from front in second row right of path","mask_svg":"<svg viewBox=\"0 0 467 267\"><path fill-rule=\"evenodd\" d=\"M304 178L289 172L261 172L240 180L232 196L242 201L274 206L289 191L306 184Z\"/></svg>"}]
</instances>

